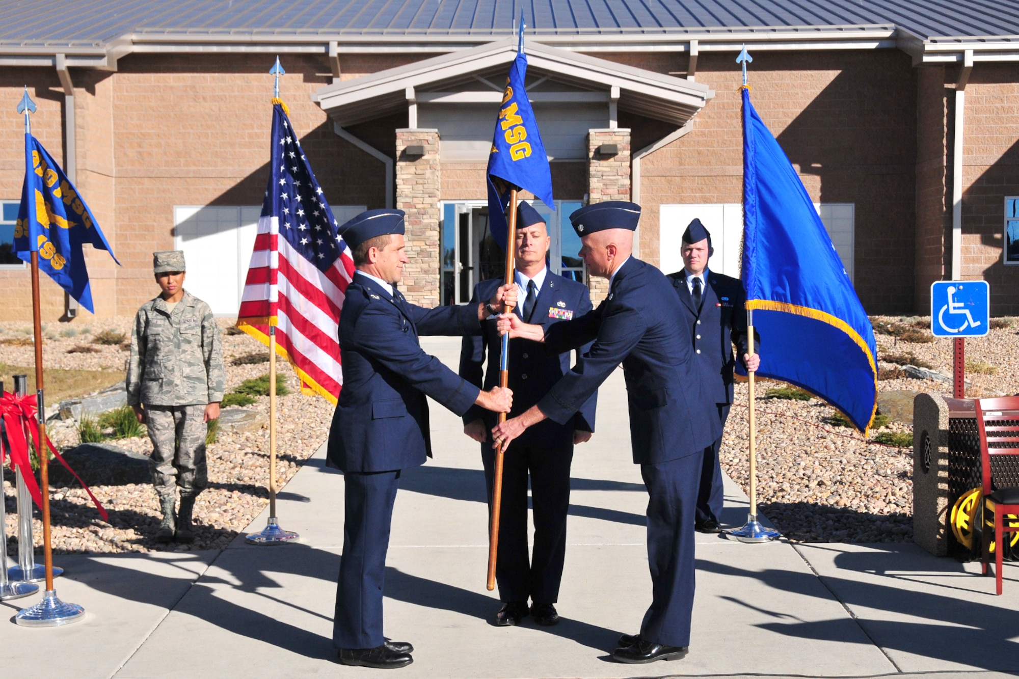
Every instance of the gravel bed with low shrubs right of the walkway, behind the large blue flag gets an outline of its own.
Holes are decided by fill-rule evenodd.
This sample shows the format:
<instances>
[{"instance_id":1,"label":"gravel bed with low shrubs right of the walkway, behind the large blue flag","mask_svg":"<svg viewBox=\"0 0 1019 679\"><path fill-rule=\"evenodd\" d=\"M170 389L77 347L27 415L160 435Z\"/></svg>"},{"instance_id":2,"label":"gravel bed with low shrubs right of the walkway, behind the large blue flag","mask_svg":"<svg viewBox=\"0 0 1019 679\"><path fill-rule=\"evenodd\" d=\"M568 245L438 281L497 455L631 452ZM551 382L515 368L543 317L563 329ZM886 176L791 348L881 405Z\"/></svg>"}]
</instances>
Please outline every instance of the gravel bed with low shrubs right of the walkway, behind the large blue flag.
<instances>
[{"instance_id":1,"label":"gravel bed with low shrubs right of the walkway, behind the large blue flag","mask_svg":"<svg viewBox=\"0 0 1019 679\"><path fill-rule=\"evenodd\" d=\"M881 321L926 321L929 327L928 319L872 320L875 326ZM952 375L951 341L914 343L888 334L876 340L879 358L911 353L933 370ZM985 370L967 374L967 397L1019 394L1019 323L967 340L966 358ZM883 371L897 366L880 361L879 367ZM853 429L834 426L828 420L836 411L817 399L767 398L767 389L775 386L780 384L758 380L756 389L758 511L795 541L912 541L912 448L878 446ZM933 379L882 379L878 389L952 396L951 383ZM747 385L737 384L720 458L722 469L749 492L747 405ZM912 426L893 421L880 431L911 434ZM876 433L871 431L871 437Z\"/></svg>"}]
</instances>

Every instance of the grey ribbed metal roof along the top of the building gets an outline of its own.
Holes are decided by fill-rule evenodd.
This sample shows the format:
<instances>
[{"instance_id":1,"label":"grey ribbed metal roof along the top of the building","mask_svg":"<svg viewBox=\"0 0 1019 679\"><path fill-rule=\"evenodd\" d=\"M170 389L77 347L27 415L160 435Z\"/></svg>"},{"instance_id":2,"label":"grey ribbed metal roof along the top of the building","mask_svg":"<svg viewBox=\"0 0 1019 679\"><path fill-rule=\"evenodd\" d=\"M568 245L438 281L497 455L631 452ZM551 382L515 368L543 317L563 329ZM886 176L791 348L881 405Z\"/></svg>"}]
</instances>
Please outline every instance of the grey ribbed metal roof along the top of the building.
<instances>
[{"instance_id":1,"label":"grey ribbed metal roof along the top of the building","mask_svg":"<svg viewBox=\"0 0 1019 679\"><path fill-rule=\"evenodd\" d=\"M922 40L1019 36L1016 0L6 0L0 45L101 47L125 36L547 35L891 24Z\"/></svg>"}]
</instances>

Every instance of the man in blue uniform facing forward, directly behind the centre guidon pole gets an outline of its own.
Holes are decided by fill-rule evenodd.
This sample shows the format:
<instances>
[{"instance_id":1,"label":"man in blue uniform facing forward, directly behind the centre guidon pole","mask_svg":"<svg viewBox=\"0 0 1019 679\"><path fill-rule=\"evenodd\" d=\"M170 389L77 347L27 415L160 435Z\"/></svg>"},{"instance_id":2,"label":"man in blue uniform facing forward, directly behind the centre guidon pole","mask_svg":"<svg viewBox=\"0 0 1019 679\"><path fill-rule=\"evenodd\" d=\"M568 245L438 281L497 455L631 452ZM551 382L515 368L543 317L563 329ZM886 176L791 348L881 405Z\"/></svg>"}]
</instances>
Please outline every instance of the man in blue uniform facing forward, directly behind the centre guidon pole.
<instances>
[{"instance_id":1,"label":"man in blue uniform facing forward, directly behind the centre guidon pole","mask_svg":"<svg viewBox=\"0 0 1019 679\"><path fill-rule=\"evenodd\" d=\"M561 320L591 311L587 285L555 275L548 270L545 256L549 246L544 218L527 203L517 209L515 278L518 299L524 303L514 310L522 320L548 327ZM487 300L500 281L483 280L474 289L472 304ZM496 318L483 323L480 336L464 337L460 375L472 384L488 388L499 383L501 337ZM590 345L580 348L583 354ZM488 369L482 382L485 355ZM544 348L528 340L509 343L508 386L514 394L511 415L523 413L538 403L548 389L570 370L570 352L547 355ZM575 443L594 431L596 395L565 424L546 420L528 429L505 452L502 469L502 506L499 515L499 552L495 580L503 602L495 616L496 625L517 625L528 613L539 625L559 621L555 611L562 563L567 549L567 512L570 509L570 463ZM496 414L478 407L464 415L464 433L481 442L489 506L495 452L488 431L495 426ZM534 508L534 554L528 554L528 475ZM529 558L530 557L530 558ZM528 609L528 598L533 606Z\"/></svg>"}]
</instances>

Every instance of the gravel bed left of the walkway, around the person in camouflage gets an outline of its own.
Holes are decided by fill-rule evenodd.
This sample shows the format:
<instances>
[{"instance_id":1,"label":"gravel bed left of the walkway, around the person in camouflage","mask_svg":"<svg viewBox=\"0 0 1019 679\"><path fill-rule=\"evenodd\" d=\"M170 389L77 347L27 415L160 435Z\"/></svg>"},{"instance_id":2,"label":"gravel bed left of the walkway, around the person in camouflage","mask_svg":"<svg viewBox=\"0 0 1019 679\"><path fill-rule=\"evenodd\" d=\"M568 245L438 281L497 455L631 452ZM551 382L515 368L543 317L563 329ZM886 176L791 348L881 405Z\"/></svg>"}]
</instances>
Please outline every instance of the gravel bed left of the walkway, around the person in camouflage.
<instances>
[{"instance_id":1,"label":"gravel bed left of the walkway, around the person in camouflage","mask_svg":"<svg viewBox=\"0 0 1019 679\"><path fill-rule=\"evenodd\" d=\"M112 329L129 336L131 319L93 321L91 330L100 332ZM223 319L225 330L231 321ZM0 323L0 362L9 365L34 365L32 347L2 344L4 338L31 337L26 323ZM28 330L28 332L25 332ZM47 368L63 369L117 369L123 370L127 351L118 346L91 343L93 332L61 336L44 331L44 359ZM74 352L77 346L95 347L99 352ZM247 334L223 334L223 354L226 362L226 390L236 387L245 379L268 372L269 364L247 363L233 365L234 358L252 353L268 352L263 345ZM311 457L326 439L333 408L319 397L302 396L300 383L285 361L277 361L277 368L290 389L288 396L277 399L277 475L285 483L305 460ZM10 389L11 384L6 388ZM56 405L56 404L54 404ZM247 410L264 413L268 417L269 398L256 397ZM73 420L53 421L49 424L50 437L61 450L78 442ZM115 439L109 442L120 448L150 455L152 443L148 436ZM218 440L208 447L209 487L198 498L195 507L196 539L192 545L158 544L153 540L159 526L159 505L152 485L93 485L92 490L109 512L109 523L104 522L91 501L77 484L54 488L50 498L53 524L54 554L158 552L185 550L219 550L225 547L239 531L269 503L266 488L269 482L269 429L255 431L220 431ZM4 469L4 495L7 509L8 554L16 558L15 490L14 477ZM35 512L35 538L42 544L42 522ZM58 563L59 565L59 563Z\"/></svg>"}]
</instances>

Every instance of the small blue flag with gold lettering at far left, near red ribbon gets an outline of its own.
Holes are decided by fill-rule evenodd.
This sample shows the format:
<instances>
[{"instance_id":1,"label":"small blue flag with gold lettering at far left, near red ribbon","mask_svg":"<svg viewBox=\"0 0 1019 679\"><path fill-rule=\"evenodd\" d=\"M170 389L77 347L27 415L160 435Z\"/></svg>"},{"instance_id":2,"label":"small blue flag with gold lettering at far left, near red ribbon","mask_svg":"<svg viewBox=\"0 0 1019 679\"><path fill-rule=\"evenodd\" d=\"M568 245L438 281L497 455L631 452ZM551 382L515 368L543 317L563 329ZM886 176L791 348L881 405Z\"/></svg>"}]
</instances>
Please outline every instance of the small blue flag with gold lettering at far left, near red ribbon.
<instances>
[{"instance_id":1,"label":"small blue flag with gold lettering at far left, near red ribbon","mask_svg":"<svg viewBox=\"0 0 1019 679\"><path fill-rule=\"evenodd\" d=\"M14 252L25 262L39 252L39 270L48 274L78 304L95 313L86 243L117 258L92 210L56 161L31 134L24 135L24 184L14 226Z\"/></svg>"}]
</instances>

